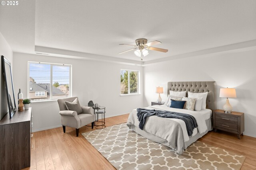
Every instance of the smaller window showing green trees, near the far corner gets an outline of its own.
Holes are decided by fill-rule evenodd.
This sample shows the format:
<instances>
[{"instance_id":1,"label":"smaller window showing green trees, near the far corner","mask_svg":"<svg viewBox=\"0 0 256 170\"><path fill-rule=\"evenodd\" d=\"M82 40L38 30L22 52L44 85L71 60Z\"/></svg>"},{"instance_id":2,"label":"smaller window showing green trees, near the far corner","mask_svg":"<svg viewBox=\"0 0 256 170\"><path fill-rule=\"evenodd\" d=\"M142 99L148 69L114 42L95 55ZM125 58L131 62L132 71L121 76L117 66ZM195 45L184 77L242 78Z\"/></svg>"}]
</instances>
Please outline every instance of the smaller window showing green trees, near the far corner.
<instances>
[{"instance_id":1,"label":"smaller window showing green trees, near the far corner","mask_svg":"<svg viewBox=\"0 0 256 170\"><path fill-rule=\"evenodd\" d=\"M139 71L121 70L121 94L139 93Z\"/></svg>"}]
</instances>

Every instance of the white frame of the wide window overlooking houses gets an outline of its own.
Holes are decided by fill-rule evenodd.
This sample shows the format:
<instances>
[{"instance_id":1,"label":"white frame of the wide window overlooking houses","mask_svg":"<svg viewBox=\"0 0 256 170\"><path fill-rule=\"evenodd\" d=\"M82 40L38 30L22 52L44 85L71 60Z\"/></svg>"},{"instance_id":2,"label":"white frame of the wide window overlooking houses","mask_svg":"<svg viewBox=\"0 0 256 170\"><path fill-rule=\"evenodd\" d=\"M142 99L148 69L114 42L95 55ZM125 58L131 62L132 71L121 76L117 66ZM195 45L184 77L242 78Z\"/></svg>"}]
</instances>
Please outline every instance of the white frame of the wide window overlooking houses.
<instances>
[{"instance_id":1,"label":"white frame of the wide window overlooking houses","mask_svg":"<svg viewBox=\"0 0 256 170\"><path fill-rule=\"evenodd\" d=\"M52 84L52 67L53 66L69 66L69 97L72 97L72 64L58 64L58 63L46 63L46 62L35 62L35 61L28 61L28 97L29 97L29 77L30 77L30 71L29 71L29 65L30 63L35 63L35 64L50 64L50 84ZM47 95L47 94L46 94ZM35 95L36 96L36 95ZM53 101L57 100L52 98L52 86L50 86L50 99L42 99L42 100L31 100L31 102L46 102L46 101Z\"/></svg>"}]
</instances>

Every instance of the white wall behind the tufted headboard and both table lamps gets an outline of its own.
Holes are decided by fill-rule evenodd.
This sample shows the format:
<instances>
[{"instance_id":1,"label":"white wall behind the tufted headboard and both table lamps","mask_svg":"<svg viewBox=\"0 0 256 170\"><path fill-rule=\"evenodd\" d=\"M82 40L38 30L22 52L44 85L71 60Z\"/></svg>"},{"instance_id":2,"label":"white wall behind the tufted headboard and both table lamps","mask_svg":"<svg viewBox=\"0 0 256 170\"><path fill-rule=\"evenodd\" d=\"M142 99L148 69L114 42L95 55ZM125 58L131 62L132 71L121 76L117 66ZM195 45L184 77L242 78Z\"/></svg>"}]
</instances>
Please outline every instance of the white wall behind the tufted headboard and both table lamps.
<instances>
[{"instance_id":1,"label":"white wall behind the tufted headboard and both table lamps","mask_svg":"<svg viewBox=\"0 0 256 170\"><path fill-rule=\"evenodd\" d=\"M219 98L220 88L236 88L237 98L230 98L234 111L244 112L245 135L256 137L256 50L226 52L208 56L176 59L144 67L144 106L156 101L155 87L164 87L161 94L167 98L167 82L216 81L217 107L222 109L225 98Z\"/></svg>"}]
</instances>

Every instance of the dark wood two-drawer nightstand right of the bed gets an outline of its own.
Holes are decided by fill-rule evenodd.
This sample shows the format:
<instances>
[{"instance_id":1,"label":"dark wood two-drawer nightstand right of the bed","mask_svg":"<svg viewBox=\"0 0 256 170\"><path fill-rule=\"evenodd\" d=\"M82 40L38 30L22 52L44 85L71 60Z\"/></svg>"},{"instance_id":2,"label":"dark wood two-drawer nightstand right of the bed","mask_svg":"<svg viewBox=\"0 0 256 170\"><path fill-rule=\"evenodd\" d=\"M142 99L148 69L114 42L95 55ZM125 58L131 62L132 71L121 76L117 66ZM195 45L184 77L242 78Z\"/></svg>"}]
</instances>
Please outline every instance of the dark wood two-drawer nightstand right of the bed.
<instances>
[{"instance_id":1,"label":"dark wood two-drawer nightstand right of the bed","mask_svg":"<svg viewBox=\"0 0 256 170\"><path fill-rule=\"evenodd\" d=\"M213 111L213 128L236 133L237 138L243 136L244 132L244 113L232 111L232 113L224 113L224 110Z\"/></svg>"}]
</instances>

